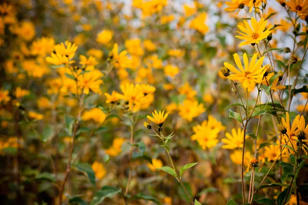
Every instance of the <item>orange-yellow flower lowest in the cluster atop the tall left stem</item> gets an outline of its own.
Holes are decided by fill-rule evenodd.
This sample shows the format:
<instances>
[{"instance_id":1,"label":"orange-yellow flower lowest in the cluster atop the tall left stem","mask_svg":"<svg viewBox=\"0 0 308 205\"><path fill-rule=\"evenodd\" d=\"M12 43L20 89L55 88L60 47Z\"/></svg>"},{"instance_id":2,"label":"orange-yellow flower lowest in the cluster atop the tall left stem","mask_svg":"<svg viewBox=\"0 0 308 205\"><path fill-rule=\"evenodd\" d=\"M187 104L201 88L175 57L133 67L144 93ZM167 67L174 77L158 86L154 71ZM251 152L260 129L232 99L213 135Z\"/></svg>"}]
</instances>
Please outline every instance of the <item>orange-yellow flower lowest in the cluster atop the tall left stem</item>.
<instances>
[{"instance_id":1,"label":"orange-yellow flower lowest in the cluster atop the tall left stem","mask_svg":"<svg viewBox=\"0 0 308 205\"><path fill-rule=\"evenodd\" d=\"M98 70L92 70L90 72L86 72L80 74L78 76L78 83L81 89L83 89L85 94L89 94L89 91L93 91L94 93L101 93L100 86L104 83L101 79L103 77L103 73Z\"/></svg>"}]
</instances>

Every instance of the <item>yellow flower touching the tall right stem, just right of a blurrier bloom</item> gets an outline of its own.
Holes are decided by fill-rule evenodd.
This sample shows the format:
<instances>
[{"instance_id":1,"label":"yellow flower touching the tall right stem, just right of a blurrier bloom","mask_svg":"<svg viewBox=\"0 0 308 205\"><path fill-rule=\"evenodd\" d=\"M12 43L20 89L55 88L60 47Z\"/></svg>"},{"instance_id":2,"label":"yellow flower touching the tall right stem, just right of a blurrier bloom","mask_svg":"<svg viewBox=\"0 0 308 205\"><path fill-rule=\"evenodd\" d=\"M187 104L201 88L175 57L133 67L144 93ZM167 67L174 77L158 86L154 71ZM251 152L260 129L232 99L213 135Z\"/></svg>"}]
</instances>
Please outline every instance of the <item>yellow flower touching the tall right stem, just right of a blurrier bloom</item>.
<instances>
[{"instance_id":1,"label":"yellow flower touching the tall right stem, just right of a blurrier bloom","mask_svg":"<svg viewBox=\"0 0 308 205\"><path fill-rule=\"evenodd\" d=\"M230 149L234 150L236 148L242 148L243 147L243 135L244 135L244 130L241 128L236 131L236 129L232 129L232 134L226 133L227 138L223 138L221 141L226 144L223 145L223 149ZM247 137L247 136L246 136Z\"/></svg>"}]
</instances>

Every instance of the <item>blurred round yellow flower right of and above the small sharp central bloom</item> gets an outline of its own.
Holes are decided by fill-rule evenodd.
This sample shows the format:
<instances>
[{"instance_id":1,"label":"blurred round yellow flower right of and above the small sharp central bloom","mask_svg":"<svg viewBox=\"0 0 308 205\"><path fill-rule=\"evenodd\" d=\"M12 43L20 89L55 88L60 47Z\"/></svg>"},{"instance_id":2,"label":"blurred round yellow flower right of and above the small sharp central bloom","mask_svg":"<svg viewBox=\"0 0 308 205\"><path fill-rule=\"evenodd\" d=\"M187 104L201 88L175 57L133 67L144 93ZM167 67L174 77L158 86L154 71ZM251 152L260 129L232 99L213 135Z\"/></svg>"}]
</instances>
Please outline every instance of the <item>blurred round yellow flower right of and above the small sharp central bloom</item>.
<instances>
[{"instance_id":1,"label":"blurred round yellow flower right of and above the small sharp central bloom","mask_svg":"<svg viewBox=\"0 0 308 205\"><path fill-rule=\"evenodd\" d=\"M192 118L198 117L205 111L203 104L198 104L197 100L185 99L183 104L179 105L179 115L187 121L192 121Z\"/></svg>"}]
</instances>

